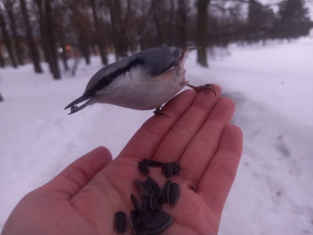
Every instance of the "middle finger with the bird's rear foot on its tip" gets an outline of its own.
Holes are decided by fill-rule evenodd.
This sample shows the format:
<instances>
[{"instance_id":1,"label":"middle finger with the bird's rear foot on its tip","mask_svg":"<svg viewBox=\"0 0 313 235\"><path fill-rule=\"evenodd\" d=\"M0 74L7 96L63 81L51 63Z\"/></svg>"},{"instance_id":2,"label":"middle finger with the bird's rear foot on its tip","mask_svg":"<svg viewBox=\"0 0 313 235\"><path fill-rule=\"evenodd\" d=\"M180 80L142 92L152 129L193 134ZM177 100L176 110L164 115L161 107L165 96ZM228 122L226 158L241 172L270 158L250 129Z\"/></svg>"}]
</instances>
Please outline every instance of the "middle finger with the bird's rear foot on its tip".
<instances>
[{"instance_id":1,"label":"middle finger with the bird's rear foot on its tip","mask_svg":"<svg viewBox=\"0 0 313 235\"><path fill-rule=\"evenodd\" d=\"M201 91L197 95L192 105L164 137L153 159L161 162L179 161L221 94L221 88L217 85L214 87L216 96L211 91Z\"/></svg>"}]
</instances>

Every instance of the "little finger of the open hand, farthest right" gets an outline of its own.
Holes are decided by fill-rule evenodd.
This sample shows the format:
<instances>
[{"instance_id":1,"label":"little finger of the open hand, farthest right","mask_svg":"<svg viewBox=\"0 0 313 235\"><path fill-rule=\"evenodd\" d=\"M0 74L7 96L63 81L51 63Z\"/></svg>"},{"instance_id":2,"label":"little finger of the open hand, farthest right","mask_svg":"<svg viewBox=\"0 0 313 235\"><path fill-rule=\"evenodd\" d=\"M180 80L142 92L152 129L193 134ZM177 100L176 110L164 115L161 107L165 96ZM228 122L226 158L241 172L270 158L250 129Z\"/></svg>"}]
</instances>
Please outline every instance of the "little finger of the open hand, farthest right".
<instances>
[{"instance_id":1,"label":"little finger of the open hand, farthest right","mask_svg":"<svg viewBox=\"0 0 313 235\"><path fill-rule=\"evenodd\" d=\"M198 186L199 193L221 217L223 206L235 179L242 153L243 134L239 127L228 125L223 131L218 151L208 165Z\"/></svg>"}]
</instances>

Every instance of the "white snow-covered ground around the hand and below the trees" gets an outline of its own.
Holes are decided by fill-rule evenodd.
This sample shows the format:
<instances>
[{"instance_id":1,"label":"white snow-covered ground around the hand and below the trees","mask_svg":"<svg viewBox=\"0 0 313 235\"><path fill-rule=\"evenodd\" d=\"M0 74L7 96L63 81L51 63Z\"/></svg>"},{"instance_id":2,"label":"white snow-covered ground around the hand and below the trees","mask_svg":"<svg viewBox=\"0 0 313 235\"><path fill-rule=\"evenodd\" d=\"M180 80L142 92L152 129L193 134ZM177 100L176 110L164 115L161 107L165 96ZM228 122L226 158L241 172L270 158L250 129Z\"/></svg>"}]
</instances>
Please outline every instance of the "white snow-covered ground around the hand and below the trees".
<instances>
[{"instance_id":1,"label":"white snow-covered ground around the hand and below the trees","mask_svg":"<svg viewBox=\"0 0 313 235\"><path fill-rule=\"evenodd\" d=\"M220 235L313 234L313 39L216 49L210 69L186 61L192 84L216 83L236 102L244 151ZM113 56L110 57L113 61ZM32 65L0 69L0 230L18 201L69 163L103 145L117 156L152 115L96 104L67 115L101 68L80 62L54 81Z\"/></svg>"}]
</instances>

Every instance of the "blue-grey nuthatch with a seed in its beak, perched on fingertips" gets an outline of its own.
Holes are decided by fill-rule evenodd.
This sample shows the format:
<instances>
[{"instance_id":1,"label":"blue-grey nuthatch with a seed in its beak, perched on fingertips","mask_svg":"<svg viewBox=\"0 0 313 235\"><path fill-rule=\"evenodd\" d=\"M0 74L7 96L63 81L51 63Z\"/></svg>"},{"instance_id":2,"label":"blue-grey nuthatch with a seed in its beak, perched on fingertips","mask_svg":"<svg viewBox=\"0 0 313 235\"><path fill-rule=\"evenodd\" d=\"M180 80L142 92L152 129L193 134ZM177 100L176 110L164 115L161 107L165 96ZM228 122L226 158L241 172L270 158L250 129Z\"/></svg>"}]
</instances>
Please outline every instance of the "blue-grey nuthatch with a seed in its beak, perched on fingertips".
<instances>
[{"instance_id":1,"label":"blue-grey nuthatch with a seed in its beak, perched on fingertips","mask_svg":"<svg viewBox=\"0 0 313 235\"><path fill-rule=\"evenodd\" d=\"M197 92L209 89L215 93L210 84L195 87L185 81L184 60L189 51L151 48L107 65L90 79L84 94L64 109L71 107L72 114L94 103L107 103L136 110L156 109L155 114L165 114L161 105L186 85Z\"/></svg>"}]
</instances>

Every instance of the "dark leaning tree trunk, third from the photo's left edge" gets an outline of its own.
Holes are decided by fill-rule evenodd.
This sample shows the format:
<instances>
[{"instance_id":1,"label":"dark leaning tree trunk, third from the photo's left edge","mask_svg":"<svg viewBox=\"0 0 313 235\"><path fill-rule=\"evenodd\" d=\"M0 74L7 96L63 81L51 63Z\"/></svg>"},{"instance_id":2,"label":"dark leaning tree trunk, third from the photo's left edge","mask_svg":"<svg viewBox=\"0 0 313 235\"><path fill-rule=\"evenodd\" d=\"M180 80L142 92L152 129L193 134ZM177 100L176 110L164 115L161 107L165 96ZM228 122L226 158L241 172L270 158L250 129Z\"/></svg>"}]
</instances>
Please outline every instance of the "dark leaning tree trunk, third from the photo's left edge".
<instances>
[{"instance_id":1,"label":"dark leaning tree trunk, third from the photo's left edge","mask_svg":"<svg viewBox=\"0 0 313 235\"><path fill-rule=\"evenodd\" d=\"M27 31L27 34L26 34L27 42L28 42L28 46L29 46L29 49L30 49L30 52L32 55L35 72L36 73L42 73L38 51L37 51L36 45L34 43L32 30L30 28L30 24L29 24L29 20L28 20L27 10L26 10L26 6L25 6L25 0L20 0L20 4L21 4L22 13L23 13L25 28Z\"/></svg>"}]
</instances>

